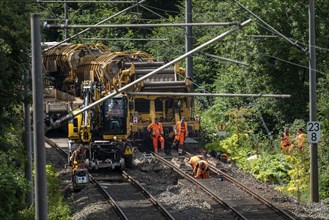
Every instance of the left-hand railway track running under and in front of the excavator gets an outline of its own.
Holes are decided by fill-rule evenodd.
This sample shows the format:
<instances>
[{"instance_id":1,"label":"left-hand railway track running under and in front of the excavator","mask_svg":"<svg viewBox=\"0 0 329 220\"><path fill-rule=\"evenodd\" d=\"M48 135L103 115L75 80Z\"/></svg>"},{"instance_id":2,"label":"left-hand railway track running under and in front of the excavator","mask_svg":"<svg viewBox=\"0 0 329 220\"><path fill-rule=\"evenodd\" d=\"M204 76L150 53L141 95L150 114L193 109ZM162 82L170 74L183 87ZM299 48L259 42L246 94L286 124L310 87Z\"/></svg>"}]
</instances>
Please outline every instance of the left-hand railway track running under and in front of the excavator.
<instances>
[{"instance_id":1,"label":"left-hand railway track running under and in front of the excavator","mask_svg":"<svg viewBox=\"0 0 329 220\"><path fill-rule=\"evenodd\" d=\"M45 142L67 158L67 152L53 140ZM120 219L175 219L157 200L125 171L89 174Z\"/></svg>"}]
</instances>

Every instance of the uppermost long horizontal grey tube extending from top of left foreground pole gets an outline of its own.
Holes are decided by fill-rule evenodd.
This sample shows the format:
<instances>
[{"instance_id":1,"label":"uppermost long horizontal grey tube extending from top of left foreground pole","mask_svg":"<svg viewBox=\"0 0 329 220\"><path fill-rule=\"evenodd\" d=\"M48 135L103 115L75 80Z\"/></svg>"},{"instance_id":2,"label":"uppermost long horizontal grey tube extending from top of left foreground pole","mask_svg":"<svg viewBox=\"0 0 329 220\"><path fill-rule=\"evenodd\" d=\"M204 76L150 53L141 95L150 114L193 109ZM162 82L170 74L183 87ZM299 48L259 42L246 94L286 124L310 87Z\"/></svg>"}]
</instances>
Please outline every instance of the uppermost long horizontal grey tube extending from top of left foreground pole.
<instances>
[{"instance_id":1,"label":"uppermost long horizontal grey tube extending from top of left foreground pole","mask_svg":"<svg viewBox=\"0 0 329 220\"><path fill-rule=\"evenodd\" d=\"M146 28L146 27L193 27L193 26L238 26L238 22L213 22L213 23L168 23L168 24L45 24L45 29L75 29L75 28Z\"/></svg>"}]
</instances>

